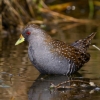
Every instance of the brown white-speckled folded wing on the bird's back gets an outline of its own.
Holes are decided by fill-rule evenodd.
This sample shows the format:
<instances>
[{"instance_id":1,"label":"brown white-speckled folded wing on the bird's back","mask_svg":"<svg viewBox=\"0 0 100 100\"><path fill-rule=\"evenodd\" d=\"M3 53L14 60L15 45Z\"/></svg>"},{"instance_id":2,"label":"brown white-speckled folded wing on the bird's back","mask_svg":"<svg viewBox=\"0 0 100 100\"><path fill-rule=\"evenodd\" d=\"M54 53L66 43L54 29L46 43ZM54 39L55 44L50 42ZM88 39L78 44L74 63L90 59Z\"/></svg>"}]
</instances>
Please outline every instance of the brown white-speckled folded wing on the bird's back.
<instances>
[{"instance_id":1,"label":"brown white-speckled folded wing on the bird's back","mask_svg":"<svg viewBox=\"0 0 100 100\"><path fill-rule=\"evenodd\" d=\"M90 55L87 52L83 53L78 48L67 45L62 41L54 40L52 45L52 52L57 52L59 55L64 56L66 59L71 59L78 66L82 66L90 59Z\"/></svg>"}]
</instances>

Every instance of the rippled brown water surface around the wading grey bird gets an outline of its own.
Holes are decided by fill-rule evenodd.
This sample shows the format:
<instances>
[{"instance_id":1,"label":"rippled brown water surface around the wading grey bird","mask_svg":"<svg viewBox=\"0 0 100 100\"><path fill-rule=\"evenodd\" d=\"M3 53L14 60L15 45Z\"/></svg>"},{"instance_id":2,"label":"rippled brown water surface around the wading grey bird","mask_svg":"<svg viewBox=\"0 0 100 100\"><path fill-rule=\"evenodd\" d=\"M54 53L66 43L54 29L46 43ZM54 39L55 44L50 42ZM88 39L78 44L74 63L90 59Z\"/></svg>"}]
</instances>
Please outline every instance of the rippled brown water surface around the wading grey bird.
<instances>
[{"instance_id":1,"label":"rippled brown water surface around the wading grey bird","mask_svg":"<svg viewBox=\"0 0 100 100\"><path fill-rule=\"evenodd\" d=\"M66 43L86 37L97 31L92 44L100 47L100 27L80 25L66 32L58 32L53 38ZM100 51L89 48L91 59L78 74L68 76L42 76L29 61L28 44L15 46L20 34L1 34L0 36L0 100L100 100L100 91L66 90L50 92L50 83L59 84L71 77L89 78L100 86Z\"/></svg>"}]
</instances>

